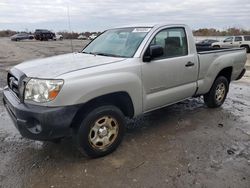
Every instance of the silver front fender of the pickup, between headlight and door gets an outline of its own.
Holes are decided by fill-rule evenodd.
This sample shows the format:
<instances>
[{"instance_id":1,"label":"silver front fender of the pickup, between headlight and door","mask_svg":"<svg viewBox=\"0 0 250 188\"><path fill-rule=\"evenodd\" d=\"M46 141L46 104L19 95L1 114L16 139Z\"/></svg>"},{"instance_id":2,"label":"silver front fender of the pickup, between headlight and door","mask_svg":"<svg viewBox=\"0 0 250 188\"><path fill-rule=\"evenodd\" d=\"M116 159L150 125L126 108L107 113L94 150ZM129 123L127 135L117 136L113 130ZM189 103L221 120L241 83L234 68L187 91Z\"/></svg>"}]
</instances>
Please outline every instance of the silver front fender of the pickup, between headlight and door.
<instances>
[{"instance_id":1,"label":"silver front fender of the pickup, between headlight and door","mask_svg":"<svg viewBox=\"0 0 250 188\"><path fill-rule=\"evenodd\" d=\"M130 96L135 115L142 112L141 80L135 73L118 72L67 80L53 105L83 104L96 97L115 92Z\"/></svg>"}]
</instances>

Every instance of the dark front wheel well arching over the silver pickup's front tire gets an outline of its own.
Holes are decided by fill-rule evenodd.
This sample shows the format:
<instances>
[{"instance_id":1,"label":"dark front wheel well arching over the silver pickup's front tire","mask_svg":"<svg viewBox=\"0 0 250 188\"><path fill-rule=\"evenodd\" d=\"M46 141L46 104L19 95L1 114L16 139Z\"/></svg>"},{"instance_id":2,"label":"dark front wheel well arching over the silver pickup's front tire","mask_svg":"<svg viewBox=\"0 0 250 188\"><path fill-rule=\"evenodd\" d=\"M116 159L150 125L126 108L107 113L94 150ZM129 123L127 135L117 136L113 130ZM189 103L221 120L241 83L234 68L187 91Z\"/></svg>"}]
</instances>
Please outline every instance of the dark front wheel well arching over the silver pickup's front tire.
<instances>
[{"instance_id":1,"label":"dark front wheel well arching over the silver pickup's front tire","mask_svg":"<svg viewBox=\"0 0 250 188\"><path fill-rule=\"evenodd\" d=\"M82 119L88 112L90 112L96 107L105 104L116 106L127 117L132 118L134 116L134 106L129 94L127 92L115 92L94 98L83 104L77 111L72 121L71 127L79 125L79 122L82 121Z\"/></svg>"}]
</instances>

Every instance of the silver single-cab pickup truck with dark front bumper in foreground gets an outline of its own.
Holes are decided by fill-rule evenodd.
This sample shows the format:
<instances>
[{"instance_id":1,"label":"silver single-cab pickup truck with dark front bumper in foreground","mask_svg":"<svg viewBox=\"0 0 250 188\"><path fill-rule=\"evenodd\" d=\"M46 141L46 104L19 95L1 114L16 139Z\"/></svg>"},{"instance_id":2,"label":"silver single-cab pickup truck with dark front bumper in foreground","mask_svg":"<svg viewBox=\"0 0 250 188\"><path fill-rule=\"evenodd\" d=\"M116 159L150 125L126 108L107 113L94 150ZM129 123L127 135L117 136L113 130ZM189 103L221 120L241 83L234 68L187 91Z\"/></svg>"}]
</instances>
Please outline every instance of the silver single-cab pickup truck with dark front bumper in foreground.
<instances>
[{"instance_id":1,"label":"silver single-cab pickup truck with dark front bumper in foreground","mask_svg":"<svg viewBox=\"0 0 250 188\"><path fill-rule=\"evenodd\" d=\"M24 137L56 141L73 136L80 151L114 151L125 117L203 95L216 108L240 79L245 49L196 49L186 25L110 29L81 52L13 67L4 104Z\"/></svg>"}]
</instances>

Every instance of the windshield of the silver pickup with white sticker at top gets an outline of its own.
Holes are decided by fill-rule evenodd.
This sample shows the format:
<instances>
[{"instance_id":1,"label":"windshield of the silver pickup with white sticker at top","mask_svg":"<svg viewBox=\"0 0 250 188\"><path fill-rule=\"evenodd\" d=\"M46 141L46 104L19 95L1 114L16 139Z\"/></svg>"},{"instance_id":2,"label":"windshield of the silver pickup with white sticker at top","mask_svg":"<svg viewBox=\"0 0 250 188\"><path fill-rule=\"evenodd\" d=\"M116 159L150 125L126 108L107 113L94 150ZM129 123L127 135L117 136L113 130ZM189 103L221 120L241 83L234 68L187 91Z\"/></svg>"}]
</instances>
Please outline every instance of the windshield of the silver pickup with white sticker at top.
<instances>
[{"instance_id":1,"label":"windshield of the silver pickup with white sticker at top","mask_svg":"<svg viewBox=\"0 0 250 188\"><path fill-rule=\"evenodd\" d=\"M122 28L107 30L82 52L112 57L133 57L151 28Z\"/></svg>"}]
</instances>

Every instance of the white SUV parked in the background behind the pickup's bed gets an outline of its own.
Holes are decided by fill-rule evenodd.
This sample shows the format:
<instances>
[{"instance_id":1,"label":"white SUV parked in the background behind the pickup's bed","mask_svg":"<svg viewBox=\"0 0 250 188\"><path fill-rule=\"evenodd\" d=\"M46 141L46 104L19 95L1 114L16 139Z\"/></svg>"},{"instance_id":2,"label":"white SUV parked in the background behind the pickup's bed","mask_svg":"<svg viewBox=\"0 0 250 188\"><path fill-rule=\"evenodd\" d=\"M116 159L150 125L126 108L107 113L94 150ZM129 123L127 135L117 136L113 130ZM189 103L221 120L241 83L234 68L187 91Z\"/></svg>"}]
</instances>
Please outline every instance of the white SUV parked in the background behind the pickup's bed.
<instances>
[{"instance_id":1,"label":"white SUV parked in the background behind the pickup's bed","mask_svg":"<svg viewBox=\"0 0 250 188\"><path fill-rule=\"evenodd\" d=\"M227 37L222 42L215 42L212 44L215 48L236 48L244 47L250 53L250 35Z\"/></svg>"}]
</instances>

